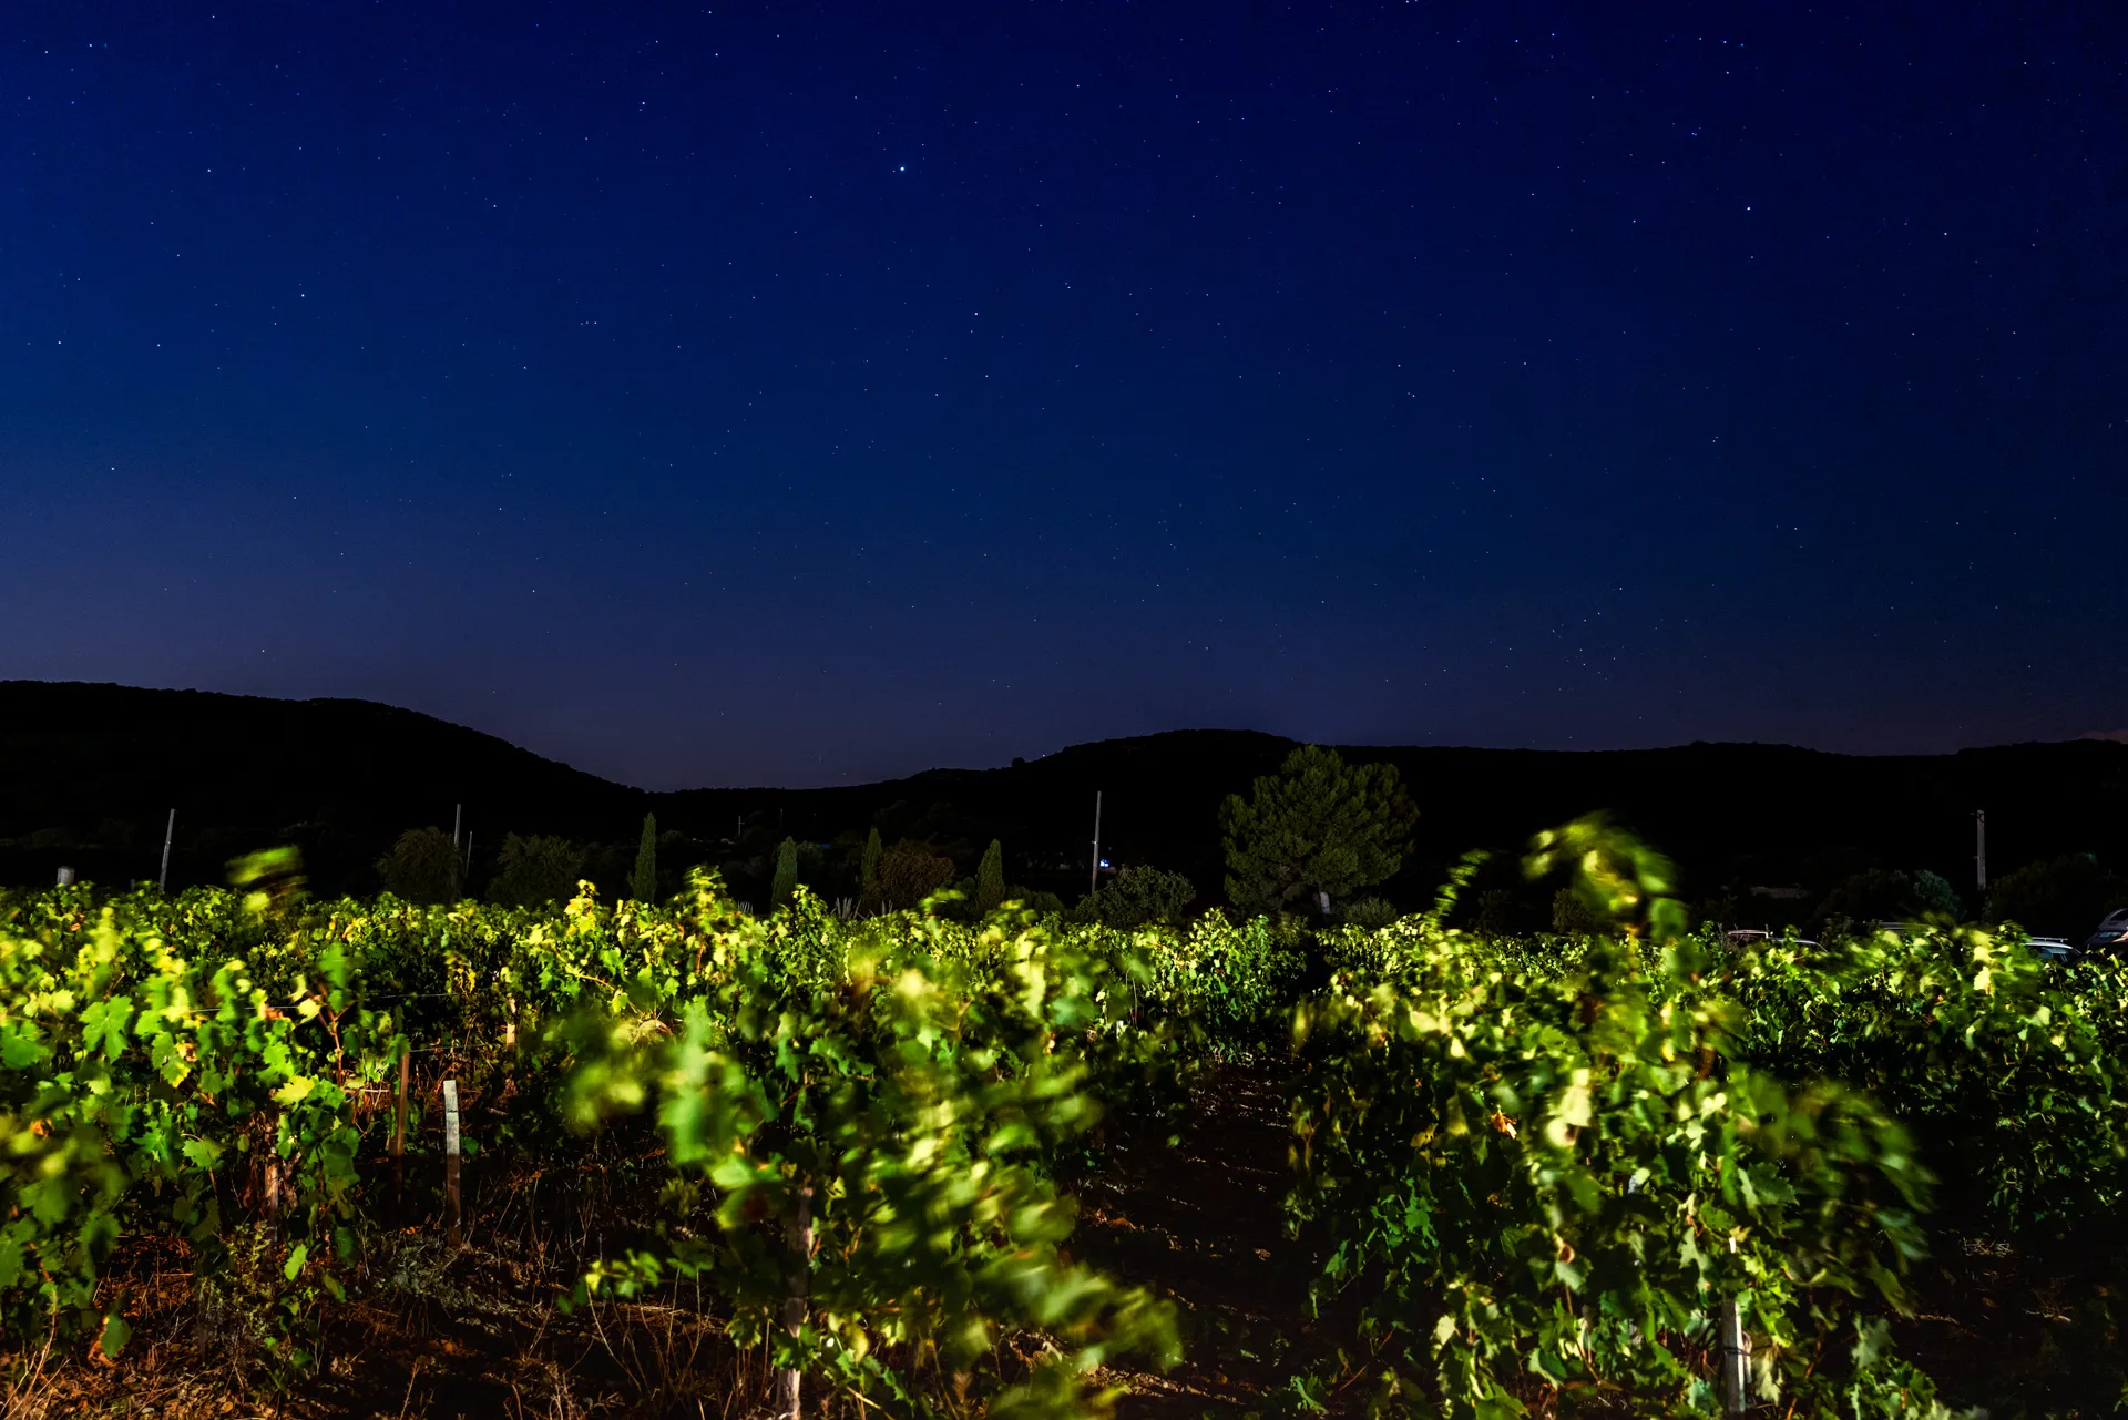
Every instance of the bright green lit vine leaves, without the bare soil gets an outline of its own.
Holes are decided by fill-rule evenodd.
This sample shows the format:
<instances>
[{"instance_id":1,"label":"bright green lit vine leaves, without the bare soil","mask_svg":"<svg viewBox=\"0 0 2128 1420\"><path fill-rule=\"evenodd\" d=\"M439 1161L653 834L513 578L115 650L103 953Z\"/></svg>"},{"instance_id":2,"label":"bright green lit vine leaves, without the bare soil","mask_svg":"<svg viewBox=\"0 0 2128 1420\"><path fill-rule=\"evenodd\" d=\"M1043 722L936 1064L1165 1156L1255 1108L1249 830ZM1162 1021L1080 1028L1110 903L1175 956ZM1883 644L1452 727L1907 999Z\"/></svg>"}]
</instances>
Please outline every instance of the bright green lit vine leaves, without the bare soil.
<instances>
[{"instance_id":1,"label":"bright green lit vine leaves, without the bare soil","mask_svg":"<svg viewBox=\"0 0 2128 1420\"><path fill-rule=\"evenodd\" d=\"M1287 1079L1290 1209L1353 1303L1326 1318L1358 1318L1360 1369L1294 1373L1302 1409L1715 1414L1734 1301L1768 1414L1941 1416L1885 1331L1932 1199L2117 1222L2124 967L1979 928L1730 950L1600 820L1528 866L1600 930L1447 928L1473 858L1430 913L1321 932L1328 979L1266 918L841 920L802 886L749 918L713 873L528 909L315 903L281 856L240 892L0 894L0 1318L121 1352L113 1250L172 1237L304 1375L372 1237L362 1101L415 1041L496 1101L483 1154L662 1186L572 1305L687 1277L809 1392L892 1416L1094 1416L1107 1358L1175 1356L1156 1292L1068 1256L1064 1165L1241 1058Z\"/></svg>"}]
</instances>

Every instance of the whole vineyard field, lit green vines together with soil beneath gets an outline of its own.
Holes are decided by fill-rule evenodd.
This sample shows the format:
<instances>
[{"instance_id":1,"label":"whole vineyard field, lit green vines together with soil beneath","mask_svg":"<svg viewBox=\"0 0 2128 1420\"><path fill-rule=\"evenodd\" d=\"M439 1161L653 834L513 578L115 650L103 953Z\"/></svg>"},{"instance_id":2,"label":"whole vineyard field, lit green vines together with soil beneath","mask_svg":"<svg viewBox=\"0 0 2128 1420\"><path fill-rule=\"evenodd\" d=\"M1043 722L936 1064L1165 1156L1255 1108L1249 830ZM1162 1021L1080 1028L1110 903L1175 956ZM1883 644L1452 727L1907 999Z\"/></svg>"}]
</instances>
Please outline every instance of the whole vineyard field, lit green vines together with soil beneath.
<instances>
[{"instance_id":1,"label":"whole vineyard field, lit green vines together with soil beneath","mask_svg":"<svg viewBox=\"0 0 2128 1420\"><path fill-rule=\"evenodd\" d=\"M6 1414L2113 1409L2115 962L1551 858L1613 930L0 898Z\"/></svg>"}]
</instances>

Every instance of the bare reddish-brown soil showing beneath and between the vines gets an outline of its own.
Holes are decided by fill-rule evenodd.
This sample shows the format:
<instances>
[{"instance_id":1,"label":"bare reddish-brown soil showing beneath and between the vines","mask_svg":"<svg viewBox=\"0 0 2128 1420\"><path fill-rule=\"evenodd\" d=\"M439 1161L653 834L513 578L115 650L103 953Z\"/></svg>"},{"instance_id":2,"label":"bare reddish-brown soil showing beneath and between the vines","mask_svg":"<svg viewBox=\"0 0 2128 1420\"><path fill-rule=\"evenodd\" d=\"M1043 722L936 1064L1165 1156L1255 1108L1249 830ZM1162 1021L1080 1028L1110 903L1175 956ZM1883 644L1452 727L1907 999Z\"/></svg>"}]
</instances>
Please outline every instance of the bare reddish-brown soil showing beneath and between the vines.
<instances>
[{"instance_id":1,"label":"bare reddish-brown soil showing beneath and between the vines","mask_svg":"<svg viewBox=\"0 0 2128 1420\"><path fill-rule=\"evenodd\" d=\"M1173 1141L1170 1141L1173 1139ZM1287 1237L1287 1130L1277 1079L1230 1069L1190 1124L1111 1122L1079 1196L1073 1250L1177 1303L1187 1360L1162 1375L1119 1369L1119 1420L1198 1420L1287 1411L1285 1377L1302 1367L1341 1377L1332 1414L1366 1401L1366 1367L1347 1360L1349 1316L1309 1316L1317 1258ZM766 1358L741 1352L704 1318L706 1299L675 1292L641 1305L564 1316L553 1279L568 1271L541 1241L536 1171L468 1190L462 1248L413 1203L377 1239L360 1294L328 1311L323 1373L294 1392L260 1390L262 1363L226 1309L192 1297L183 1248L119 1256L134 1341L113 1365L89 1345L15 1356L0 1420L49 1416L719 1416L762 1411ZM423 1194L417 1186L409 1192ZM585 1220L596 1231L596 1216ZM1939 1237L1915 1277L1919 1307L1900 1352L1934 1373L1947 1399L1998 1420L2111 1414L2102 1375L2119 1356L2102 1311L2117 1248L2011 1250ZM202 1356L215 1360L202 1363ZM234 1358L234 1360L232 1360ZM847 1414L845 1414L847 1411ZM855 1405L815 1407L860 1420Z\"/></svg>"}]
</instances>

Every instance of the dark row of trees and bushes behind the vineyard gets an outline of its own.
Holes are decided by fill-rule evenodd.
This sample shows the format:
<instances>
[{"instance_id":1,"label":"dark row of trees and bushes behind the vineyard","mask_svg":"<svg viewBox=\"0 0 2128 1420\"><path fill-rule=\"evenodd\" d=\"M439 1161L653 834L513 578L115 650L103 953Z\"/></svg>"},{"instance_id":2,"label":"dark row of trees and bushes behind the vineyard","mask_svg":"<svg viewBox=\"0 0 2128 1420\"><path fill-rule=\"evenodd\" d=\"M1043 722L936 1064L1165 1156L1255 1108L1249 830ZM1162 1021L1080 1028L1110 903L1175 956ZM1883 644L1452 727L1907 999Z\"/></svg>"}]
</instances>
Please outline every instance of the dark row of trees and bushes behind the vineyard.
<instances>
[{"instance_id":1,"label":"dark row of trees and bushes behind the vineyard","mask_svg":"<svg viewBox=\"0 0 2128 1420\"><path fill-rule=\"evenodd\" d=\"M479 873L451 835L413 828L392 843L377 871L385 890L415 903L479 896L530 907L572 896L583 879L615 884L636 901L658 901L679 890L687 866L706 860L724 871L734 894L753 892L764 911L787 905L800 886L849 913L902 911L949 894L934 905L951 915L983 915L1004 903L1021 903L1062 913L1068 922L1117 928L1181 924L1221 905L1187 875L1147 862L1096 873L1096 886L1066 903L1058 892L1013 881L1000 839L990 839L979 854L964 841L943 841L943 805L900 818L913 832L900 832L892 843L877 822L862 835L845 832L817 843L741 820L736 837L721 845L721 860L704 856L717 845L660 832L655 815L645 815L632 852L628 845L513 832L477 864ZM1445 869L1422 864L1411 871L1415 820L1417 809L1394 766L1347 764L1334 749L1302 745L1275 775L1256 779L1247 796L1232 794L1219 807L1224 907L1298 924L1390 922L1424 905L1430 879ZM1483 932L1596 930L1575 894L1528 884L1513 864L1515 852L1494 854L1494 862L1475 873L1453 920ZM1419 875L1428 881L1413 881ZM1871 922L1979 918L2081 939L2105 913L2128 905L2128 879L2088 854L2026 864L1973 901L1930 869L1843 862L1836 852L1805 864L1805 877L1815 886L1766 886L1739 875L1705 892L1696 913L1724 926L1819 932ZM1402 892L1370 892L1398 881Z\"/></svg>"}]
</instances>

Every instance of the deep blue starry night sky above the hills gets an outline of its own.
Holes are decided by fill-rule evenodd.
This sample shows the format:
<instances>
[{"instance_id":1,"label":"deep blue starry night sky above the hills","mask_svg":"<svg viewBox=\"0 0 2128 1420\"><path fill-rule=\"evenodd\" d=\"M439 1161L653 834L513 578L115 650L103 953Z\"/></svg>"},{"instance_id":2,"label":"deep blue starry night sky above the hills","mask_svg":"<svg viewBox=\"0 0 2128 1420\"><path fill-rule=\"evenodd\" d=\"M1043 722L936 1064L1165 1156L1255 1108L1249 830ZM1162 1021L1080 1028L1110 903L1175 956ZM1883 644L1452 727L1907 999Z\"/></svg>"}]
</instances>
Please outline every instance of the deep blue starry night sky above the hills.
<instances>
[{"instance_id":1,"label":"deep blue starry night sky above the hills","mask_svg":"<svg viewBox=\"0 0 2128 1420\"><path fill-rule=\"evenodd\" d=\"M2117 4L0 19L0 675L619 779L2128 726Z\"/></svg>"}]
</instances>

